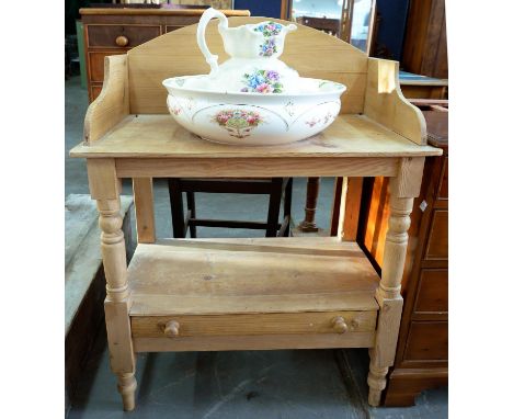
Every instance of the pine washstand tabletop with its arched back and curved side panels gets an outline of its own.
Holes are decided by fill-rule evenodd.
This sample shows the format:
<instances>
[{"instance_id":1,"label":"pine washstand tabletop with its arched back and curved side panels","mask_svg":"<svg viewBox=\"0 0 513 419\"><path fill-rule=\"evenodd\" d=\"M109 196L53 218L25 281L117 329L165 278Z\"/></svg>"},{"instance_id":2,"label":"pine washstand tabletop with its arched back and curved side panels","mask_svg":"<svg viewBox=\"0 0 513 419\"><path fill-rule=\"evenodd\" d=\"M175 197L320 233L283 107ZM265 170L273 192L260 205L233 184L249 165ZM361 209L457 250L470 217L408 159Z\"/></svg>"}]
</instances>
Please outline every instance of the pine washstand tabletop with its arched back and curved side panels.
<instances>
[{"instance_id":1,"label":"pine washstand tabletop with its arched back and curved side panels","mask_svg":"<svg viewBox=\"0 0 513 419\"><path fill-rule=\"evenodd\" d=\"M261 20L236 16L230 18L230 25ZM196 24L185 26L126 55L106 57L102 93L88 110L84 140L71 150L72 157L340 160L341 157L400 159L442 152L428 145L421 111L403 98L397 63L368 58L333 36L301 25L287 41L283 58L304 77L333 80L347 87L337 121L317 136L280 146L226 146L196 137L169 115L167 91L161 84L168 77L207 72L196 45ZM208 25L207 36L212 50L220 59L226 58L215 23ZM312 67L312 63L317 65ZM365 173L373 175L369 171ZM376 175L379 174L396 172L377 171Z\"/></svg>"}]
</instances>

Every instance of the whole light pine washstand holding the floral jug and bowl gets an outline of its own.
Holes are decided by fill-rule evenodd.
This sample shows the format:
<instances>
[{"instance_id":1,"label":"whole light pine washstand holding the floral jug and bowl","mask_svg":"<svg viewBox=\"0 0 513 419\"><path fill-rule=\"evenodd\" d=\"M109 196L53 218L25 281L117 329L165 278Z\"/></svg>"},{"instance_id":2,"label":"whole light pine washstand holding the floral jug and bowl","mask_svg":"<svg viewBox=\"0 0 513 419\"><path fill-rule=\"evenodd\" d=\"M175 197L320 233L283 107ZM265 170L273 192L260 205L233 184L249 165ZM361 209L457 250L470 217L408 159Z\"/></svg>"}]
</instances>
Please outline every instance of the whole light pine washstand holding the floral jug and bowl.
<instances>
[{"instance_id":1,"label":"whole light pine washstand holding the floral jug and bowl","mask_svg":"<svg viewBox=\"0 0 513 419\"><path fill-rule=\"evenodd\" d=\"M230 26L260 21L230 18ZM301 25L283 59L305 77L347 87L333 124L321 136L280 147L205 141L169 117L160 89L166 77L207 71L203 56L191 54L196 30L186 26L107 57L103 93L88 109L83 143L71 150L87 158L100 212L110 360L124 408L135 408L137 352L356 347L369 348L368 403L377 406L396 353L409 214L424 158L442 151L426 145L421 112L400 94L397 63L368 58ZM223 60L215 22L206 32ZM151 178L214 173L391 178L381 279L360 247L341 237L157 240L149 230ZM128 268L123 178L136 180L138 245Z\"/></svg>"}]
</instances>

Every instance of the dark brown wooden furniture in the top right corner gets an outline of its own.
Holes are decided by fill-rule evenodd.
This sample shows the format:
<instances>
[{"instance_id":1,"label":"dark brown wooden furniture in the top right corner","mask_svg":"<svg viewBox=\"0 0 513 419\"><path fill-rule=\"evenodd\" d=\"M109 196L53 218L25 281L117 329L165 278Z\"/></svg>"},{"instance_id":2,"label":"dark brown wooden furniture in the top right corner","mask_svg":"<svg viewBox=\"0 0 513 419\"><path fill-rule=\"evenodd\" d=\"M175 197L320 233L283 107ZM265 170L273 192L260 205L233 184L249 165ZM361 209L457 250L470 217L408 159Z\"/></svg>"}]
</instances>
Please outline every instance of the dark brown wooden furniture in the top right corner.
<instances>
[{"instance_id":1,"label":"dark brown wooden furniture in the top right corner","mask_svg":"<svg viewBox=\"0 0 513 419\"><path fill-rule=\"evenodd\" d=\"M401 68L447 79L447 34L444 0L411 0Z\"/></svg>"}]
</instances>

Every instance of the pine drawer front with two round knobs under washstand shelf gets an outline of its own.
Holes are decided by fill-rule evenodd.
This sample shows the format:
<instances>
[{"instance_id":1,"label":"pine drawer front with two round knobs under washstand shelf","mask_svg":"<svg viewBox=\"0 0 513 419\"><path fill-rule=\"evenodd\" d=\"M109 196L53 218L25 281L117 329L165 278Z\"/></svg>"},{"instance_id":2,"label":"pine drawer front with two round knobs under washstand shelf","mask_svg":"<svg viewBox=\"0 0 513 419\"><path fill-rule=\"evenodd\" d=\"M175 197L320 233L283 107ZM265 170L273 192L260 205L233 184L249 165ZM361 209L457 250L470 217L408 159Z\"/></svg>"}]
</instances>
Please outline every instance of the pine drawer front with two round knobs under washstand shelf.
<instances>
[{"instance_id":1,"label":"pine drawer front with two round knobs under washstand shelf","mask_svg":"<svg viewBox=\"0 0 513 419\"><path fill-rule=\"evenodd\" d=\"M340 331L337 329L334 319L340 317L343 318L346 325L345 333L374 331L376 328L376 312L191 315L132 317L132 335L134 338L173 338L275 333L339 333ZM170 332L170 329L166 332L167 326L171 327L173 332Z\"/></svg>"}]
</instances>

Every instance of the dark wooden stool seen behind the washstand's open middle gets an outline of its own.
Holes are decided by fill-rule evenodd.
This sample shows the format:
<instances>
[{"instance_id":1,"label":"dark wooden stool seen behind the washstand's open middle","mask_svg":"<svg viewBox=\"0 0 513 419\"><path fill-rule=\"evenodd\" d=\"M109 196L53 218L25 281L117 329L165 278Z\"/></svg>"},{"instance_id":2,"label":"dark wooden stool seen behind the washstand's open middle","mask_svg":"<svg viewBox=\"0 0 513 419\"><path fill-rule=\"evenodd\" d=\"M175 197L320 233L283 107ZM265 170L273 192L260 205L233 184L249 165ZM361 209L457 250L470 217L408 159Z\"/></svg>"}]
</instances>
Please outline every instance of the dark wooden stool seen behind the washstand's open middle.
<instances>
[{"instance_id":1,"label":"dark wooden stool seen behind the washstand's open middle","mask_svg":"<svg viewBox=\"0 0 513 419\"><path fill-rule=\"evenodd\" d=\"M169 197L173 237L185 238L190 229L191 238L196 237L196 226L251 228L265 230L265 237L288 236L290 229L292 178L272 179L183 179L169 178ZM187 215L184 217L182 192L185 192ZM269 211L266 222L196 218L195 192L267 194ZM280 223L280 206L284 197L283 223Z\"/></svg>"}]
</instances>

